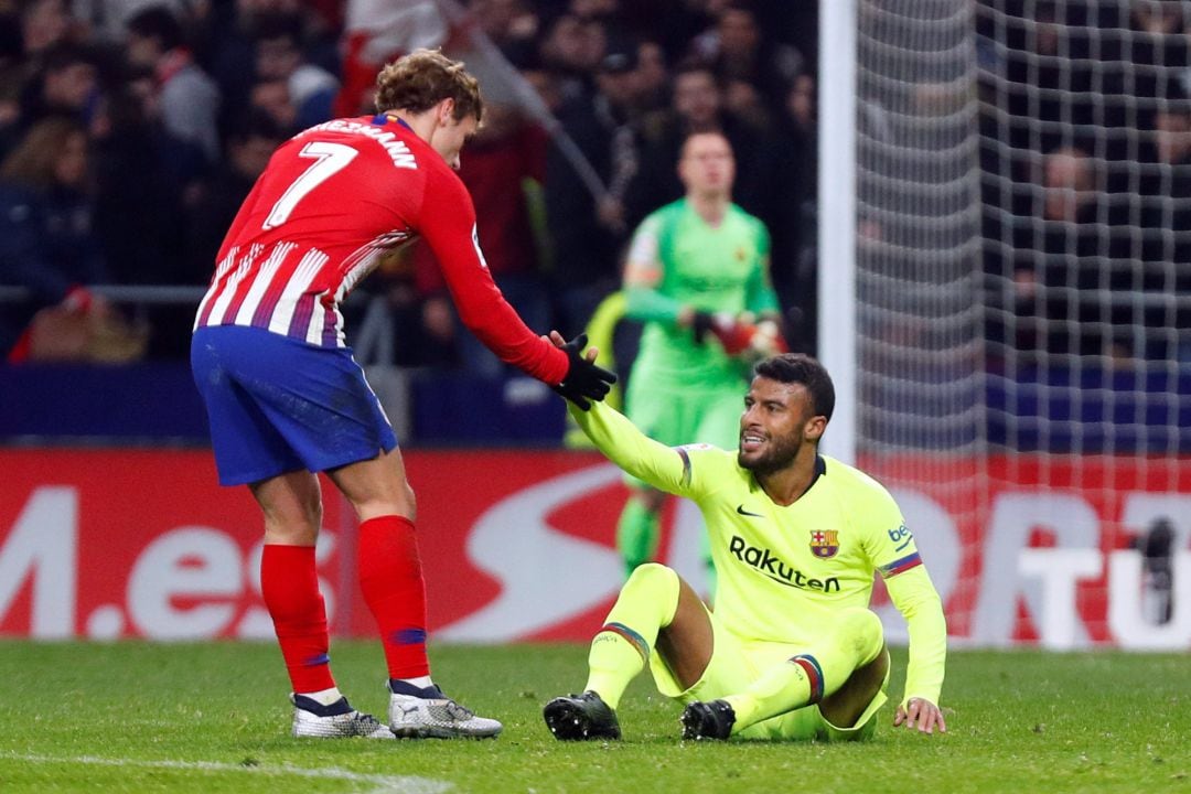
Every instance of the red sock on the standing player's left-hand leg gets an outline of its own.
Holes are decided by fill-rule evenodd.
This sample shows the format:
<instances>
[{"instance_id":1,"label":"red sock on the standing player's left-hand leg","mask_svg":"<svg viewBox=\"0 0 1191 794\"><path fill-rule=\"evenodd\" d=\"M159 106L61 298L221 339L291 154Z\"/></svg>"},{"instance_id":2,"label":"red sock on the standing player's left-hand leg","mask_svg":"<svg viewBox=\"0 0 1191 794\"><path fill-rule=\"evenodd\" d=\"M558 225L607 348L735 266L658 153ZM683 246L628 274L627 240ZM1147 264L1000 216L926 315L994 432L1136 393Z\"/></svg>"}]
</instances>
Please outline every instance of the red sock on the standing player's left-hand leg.
<instances>
[{"instance_id":1,"label":"red sock on the standing player's left-hand leg","mask_svg":"<svg viewBox=\"0 0 1191 794\"><path fill-rule=\"evenodd\" d=\"M318 592L314 546L266 544L261 555L261 594L273 618L294 692L333 687L326 606Z\"/></svg>"}]
</instances>

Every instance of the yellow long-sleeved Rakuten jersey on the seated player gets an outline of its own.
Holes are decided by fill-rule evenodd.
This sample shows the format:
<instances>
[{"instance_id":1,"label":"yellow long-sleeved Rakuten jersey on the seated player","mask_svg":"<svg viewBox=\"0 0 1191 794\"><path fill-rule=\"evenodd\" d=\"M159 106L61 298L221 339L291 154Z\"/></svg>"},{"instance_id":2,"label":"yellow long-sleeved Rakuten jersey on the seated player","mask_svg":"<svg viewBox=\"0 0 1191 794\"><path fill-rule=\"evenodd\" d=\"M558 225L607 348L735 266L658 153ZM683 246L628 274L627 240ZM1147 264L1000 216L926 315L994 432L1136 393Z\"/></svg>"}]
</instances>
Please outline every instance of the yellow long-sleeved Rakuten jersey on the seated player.
<instances>
[{"instance_id":1,"label":"yellow long-sleeved Rakuten jersey on the seated player","mask_svg":"<svg viewBox=\"0 0 1191 794\"><path fill-rule=\"evenodd\" d=\"M905 698L939 702L947 656L942 605L888 492L829 457L794 504L775 504L736 454L671 448L601 402L572 415L635 477L698 504L718 571L715 612L744 644L809 645L841 607L867 607L879 573L910 632Z\"/></svg>"}]
</instances>

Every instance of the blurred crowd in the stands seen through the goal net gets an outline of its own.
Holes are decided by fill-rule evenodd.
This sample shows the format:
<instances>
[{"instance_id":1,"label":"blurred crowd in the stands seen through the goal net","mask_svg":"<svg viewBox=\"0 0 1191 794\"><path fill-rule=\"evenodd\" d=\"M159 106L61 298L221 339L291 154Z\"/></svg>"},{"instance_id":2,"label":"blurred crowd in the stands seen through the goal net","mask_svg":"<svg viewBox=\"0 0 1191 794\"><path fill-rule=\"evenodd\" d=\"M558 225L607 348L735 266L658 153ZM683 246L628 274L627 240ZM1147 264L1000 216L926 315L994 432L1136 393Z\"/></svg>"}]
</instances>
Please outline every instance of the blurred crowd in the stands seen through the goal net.
<instances>
[{"instance_id":1,"label":"blurred crowd in the stands seen through the goal net","mask_svg":"<svg viewBox=\"0 0 1191 794\"><path fill-rule=\"evenodd\" d=\"M993 364L1191 364L1187 4L981 6Z\"/></svg>"}]
</instances>

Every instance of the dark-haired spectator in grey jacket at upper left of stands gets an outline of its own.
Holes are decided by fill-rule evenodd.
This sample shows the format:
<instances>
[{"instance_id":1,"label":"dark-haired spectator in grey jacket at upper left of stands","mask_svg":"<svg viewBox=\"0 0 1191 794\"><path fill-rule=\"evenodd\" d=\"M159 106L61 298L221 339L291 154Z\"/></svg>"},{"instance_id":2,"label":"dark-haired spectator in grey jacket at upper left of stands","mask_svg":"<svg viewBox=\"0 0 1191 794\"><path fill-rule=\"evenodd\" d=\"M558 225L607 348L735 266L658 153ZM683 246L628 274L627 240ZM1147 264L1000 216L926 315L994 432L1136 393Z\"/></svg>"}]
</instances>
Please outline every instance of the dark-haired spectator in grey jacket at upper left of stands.
<instances>
[{"instance_id":1,"label":"dark-haired spectator in grey jacket at upper left of stands","mask_svg":"<svg viewBox=\"0 0 1191 794\"><path fill-rule=\"evenodd\" d=\"M166 130L199 145L207 161L219 157L219 88L194 62L182 26L164 6L152 6L127 23L127 58L157 77L157 101Z\"/></svg>"}]
</instances>

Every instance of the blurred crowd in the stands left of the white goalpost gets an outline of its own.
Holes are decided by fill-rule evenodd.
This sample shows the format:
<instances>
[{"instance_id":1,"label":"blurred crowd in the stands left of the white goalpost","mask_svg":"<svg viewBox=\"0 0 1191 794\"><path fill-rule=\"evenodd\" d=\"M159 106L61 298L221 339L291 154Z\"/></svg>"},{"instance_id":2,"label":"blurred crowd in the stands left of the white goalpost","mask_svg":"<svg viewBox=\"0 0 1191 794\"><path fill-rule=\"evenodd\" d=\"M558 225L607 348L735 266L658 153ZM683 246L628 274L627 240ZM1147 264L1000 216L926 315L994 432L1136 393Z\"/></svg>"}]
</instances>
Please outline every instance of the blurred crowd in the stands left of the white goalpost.
<instances>
[{"instance_id":1,"label":"blurred crowd in the stands left of the white goalpost","mask_svg":"<svg viewBox=\"0 0 1191 794\"><path fill-rule=\"evenodd\" d=\"M432 2L370 5L439 13ZM31 324L68 336L60 325L88 318L113 326L125 357L183 358L193 305L114 305L87 287L205 286L272 150L312 124L370 112L375 73L350 24L368 6L0 0L0 285L35 296L0 301L4 355L29 355ZM628 235L681 195L679 144L704 129L735 148L735 199L772 231L781 301L813 307L816 0L462 6L462 26L482 31L559 123L551 135L510 99L507 80L490 92L481 75L484 127L460 173L492 273L531 327L576 333L619 287ZM448 39L459 32L448 25ZM599 198L559 131L606 187ZM417 246L358 288L388 304L395 363L494 365L443 289ZM48 312L35 320L38 310Z\"/></svg>"}]
</instances>

